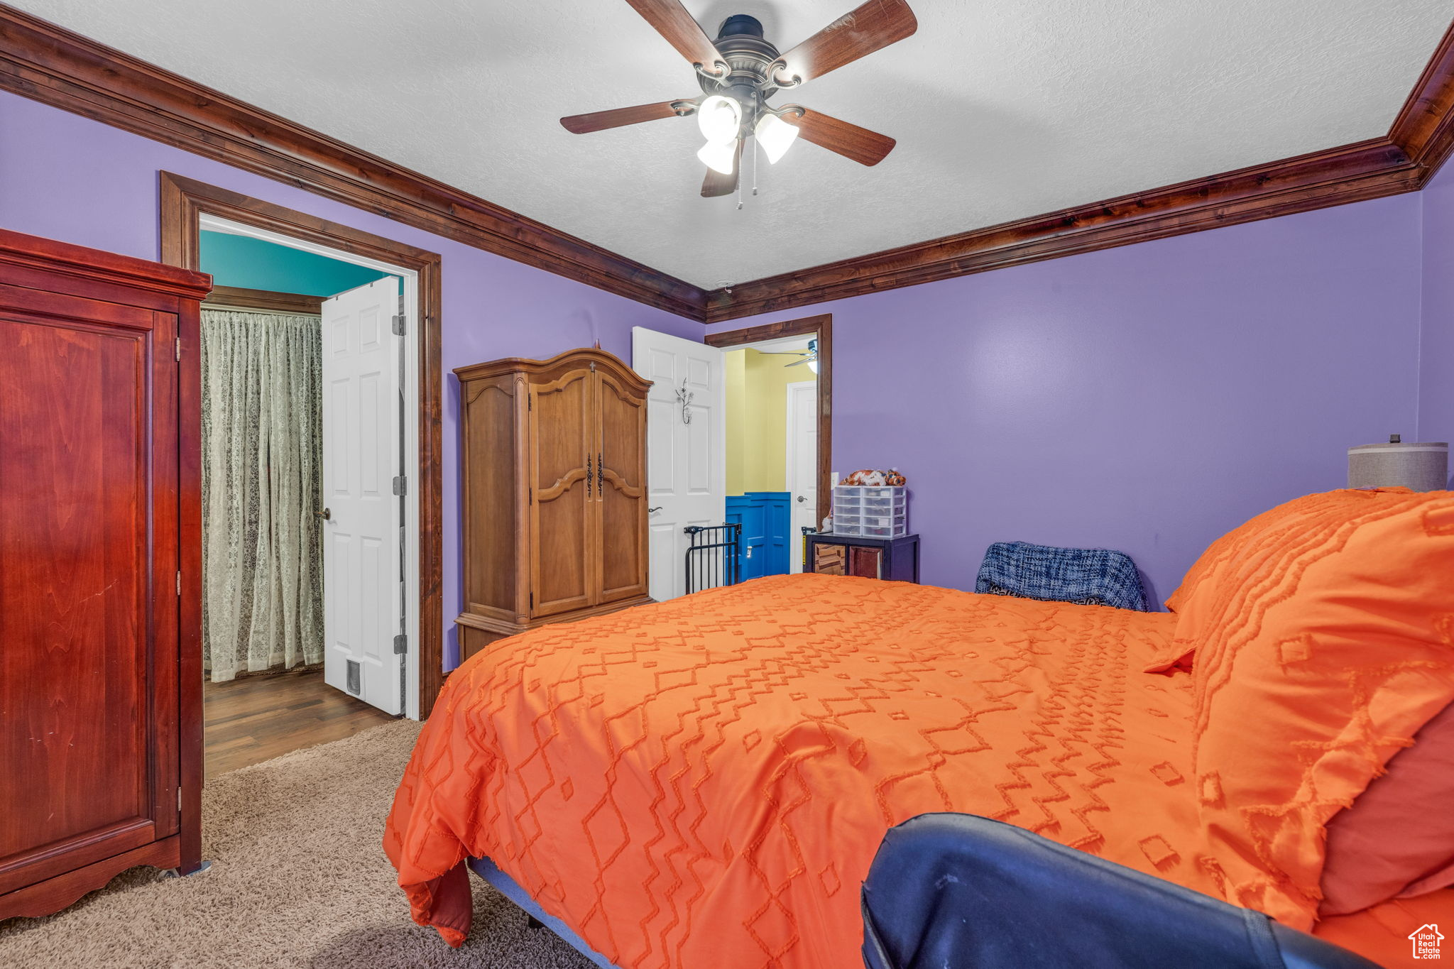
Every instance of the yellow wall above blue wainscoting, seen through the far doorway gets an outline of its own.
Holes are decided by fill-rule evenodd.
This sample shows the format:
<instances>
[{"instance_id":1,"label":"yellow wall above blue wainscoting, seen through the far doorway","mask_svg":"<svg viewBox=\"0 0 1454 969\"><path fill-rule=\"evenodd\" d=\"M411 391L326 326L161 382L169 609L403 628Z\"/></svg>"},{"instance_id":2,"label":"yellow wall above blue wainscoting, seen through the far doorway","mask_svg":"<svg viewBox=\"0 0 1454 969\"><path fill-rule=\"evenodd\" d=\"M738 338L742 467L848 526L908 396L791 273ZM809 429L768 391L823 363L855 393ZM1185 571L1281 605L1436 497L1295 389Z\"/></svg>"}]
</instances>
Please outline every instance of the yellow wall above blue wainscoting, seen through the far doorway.
<instances>
[{"instance_id":1,"label":"yellow wall above blue wainscoting, seen through the far doorway","mask_svg":"<svg viewBox=\"0 0 1454 969\"><path fill-rule=\"evenodd\" d=\"M727 494L787 490L788 384L817 379L797 359L727 352Z\"/></svg>"}]
</instances>

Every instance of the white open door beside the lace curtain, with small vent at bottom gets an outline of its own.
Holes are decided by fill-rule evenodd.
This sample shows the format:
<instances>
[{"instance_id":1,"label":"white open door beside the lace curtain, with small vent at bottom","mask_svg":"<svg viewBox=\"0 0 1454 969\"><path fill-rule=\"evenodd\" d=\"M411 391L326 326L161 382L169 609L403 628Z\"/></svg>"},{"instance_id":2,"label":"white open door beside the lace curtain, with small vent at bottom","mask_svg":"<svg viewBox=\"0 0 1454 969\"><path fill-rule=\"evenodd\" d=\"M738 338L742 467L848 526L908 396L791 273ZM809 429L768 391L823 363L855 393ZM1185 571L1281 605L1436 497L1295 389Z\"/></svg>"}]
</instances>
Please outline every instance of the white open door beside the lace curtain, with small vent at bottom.
<instances>
[{"instance_id":1,"label":"white open door beside the lace curtain, with small vent at bottom","mask_svg":"<svg viewBox=\"0 0 1454 969\"><path fill-rule=\"evenodd\" d=\"M323 678L390 713L404 709L398 304L394 276L323 302Z\"/></svg>"}]
</instances>

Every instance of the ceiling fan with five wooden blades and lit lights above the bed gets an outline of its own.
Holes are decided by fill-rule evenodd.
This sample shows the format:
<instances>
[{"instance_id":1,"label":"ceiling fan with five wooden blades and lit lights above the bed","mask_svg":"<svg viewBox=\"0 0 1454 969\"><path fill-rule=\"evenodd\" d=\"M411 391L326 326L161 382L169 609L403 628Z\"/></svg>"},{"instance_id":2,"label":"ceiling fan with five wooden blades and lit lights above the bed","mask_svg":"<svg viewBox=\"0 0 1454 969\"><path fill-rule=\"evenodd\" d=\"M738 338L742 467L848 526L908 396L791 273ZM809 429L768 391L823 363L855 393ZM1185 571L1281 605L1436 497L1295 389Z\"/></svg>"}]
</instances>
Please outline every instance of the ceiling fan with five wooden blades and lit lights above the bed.
<instances>
[{"instance_id":1,"label":"ceiling fan with five wooden blades and lit lights above the bed","mask_svg":"<svg viewBox=\"0 0 1454 969\"><path fill-rule=\"evenodd\" d=\"M868 0L787 54L779 54L763 38L762 23L744 13L727 17L711 41L679 0L627 3L692 64L702 94L561 118L567 131L583 135L696 115L707 138L696 153L708 169L702 182L707 198L731 195L737 187L749 137L762 145L769 163L778 161L798 135L865 166L878 164L893 150L894 139L887 135L801 105L774 108L768 99L912 35L919 23L904 0Z\"/></svg>"}]
</instances>

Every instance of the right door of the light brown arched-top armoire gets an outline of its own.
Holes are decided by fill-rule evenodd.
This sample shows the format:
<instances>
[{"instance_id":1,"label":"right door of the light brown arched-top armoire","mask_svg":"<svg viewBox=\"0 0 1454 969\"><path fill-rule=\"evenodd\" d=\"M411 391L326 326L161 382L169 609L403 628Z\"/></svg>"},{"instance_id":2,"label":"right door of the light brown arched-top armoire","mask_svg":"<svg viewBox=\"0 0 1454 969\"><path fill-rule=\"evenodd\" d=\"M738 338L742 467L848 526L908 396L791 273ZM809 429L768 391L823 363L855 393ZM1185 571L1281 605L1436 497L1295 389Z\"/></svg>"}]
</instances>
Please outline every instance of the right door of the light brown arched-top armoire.
<instances>
[{"instance_id":1,"label":"right door of the light brown arched-top armoire","mask_svg":"<svg viewBox=\"0 0 1454 969\"><path fill-rule=\"evenodd\" d=\"M601 466L601 599L644 596L647 556L646 401L608 372L596 375Z\"/></svg>"}]
</instances>

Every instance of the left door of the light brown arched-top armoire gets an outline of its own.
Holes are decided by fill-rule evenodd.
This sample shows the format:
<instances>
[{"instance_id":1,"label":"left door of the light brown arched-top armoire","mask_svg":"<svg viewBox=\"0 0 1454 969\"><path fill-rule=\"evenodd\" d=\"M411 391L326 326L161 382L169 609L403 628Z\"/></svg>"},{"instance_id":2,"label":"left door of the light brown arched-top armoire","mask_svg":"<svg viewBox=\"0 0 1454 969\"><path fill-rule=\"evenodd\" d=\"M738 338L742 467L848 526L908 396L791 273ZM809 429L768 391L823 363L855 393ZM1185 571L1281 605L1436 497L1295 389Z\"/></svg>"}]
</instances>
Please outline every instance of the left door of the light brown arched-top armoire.
<instances>
[{"instance_id":1,"label":"left door of the light brown arched-top armoire","mask_svg":"<svg viewBox=\"0 0 1454 969\"><path fill-rule=\"evenodd\" d=\"M531 401L531 616L593 603L593 375L586 366L534 384Z\"/></svg>"}]
</instances>

